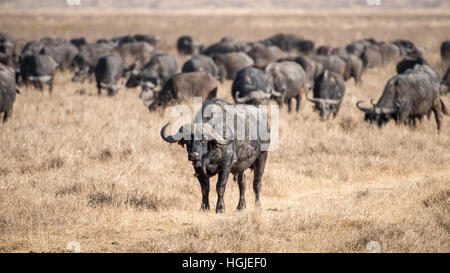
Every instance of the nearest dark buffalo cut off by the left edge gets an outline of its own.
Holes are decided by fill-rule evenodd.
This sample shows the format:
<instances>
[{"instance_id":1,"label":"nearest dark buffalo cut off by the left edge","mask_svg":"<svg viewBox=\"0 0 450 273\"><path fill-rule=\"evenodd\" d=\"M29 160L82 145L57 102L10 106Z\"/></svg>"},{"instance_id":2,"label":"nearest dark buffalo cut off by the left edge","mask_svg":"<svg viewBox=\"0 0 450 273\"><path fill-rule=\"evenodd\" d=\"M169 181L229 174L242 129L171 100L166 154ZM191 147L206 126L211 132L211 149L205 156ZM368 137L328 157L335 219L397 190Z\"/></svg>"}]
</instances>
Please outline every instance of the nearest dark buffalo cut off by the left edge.
<instances>
[{"instance_id":1,"label":"nearest dark buffalo cut off by the left edge","mask_svg":"<svg viewBox=\"0 0 450 273\"><path fill-rule=\"evenodd\" d=\"M3 122L11 115L16 93L16 76L14 69L0 64L0 115L3 113Z\"/></svg>"}]
</instances>

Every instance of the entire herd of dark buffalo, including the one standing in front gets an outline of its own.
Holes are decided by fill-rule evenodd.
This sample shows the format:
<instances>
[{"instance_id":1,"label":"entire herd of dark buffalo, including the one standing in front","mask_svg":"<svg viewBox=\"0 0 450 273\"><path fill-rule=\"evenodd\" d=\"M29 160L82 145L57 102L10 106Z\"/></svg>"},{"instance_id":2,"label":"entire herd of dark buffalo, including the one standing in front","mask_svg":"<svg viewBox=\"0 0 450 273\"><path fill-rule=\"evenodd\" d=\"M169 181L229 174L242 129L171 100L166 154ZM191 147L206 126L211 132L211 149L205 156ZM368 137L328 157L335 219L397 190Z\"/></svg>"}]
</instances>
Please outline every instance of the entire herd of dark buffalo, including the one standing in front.
<instances>
[{"instance_id":1,"label":"entire herd of dark buffalo, including the one standing in front","mask_svg":"<svg viewBox=\"0 0 450 273\"><path fill-rule=\"evenodd\" d=\"M397 74L386 83L378 101L358 101L356 107L364 120L382 126L393 119L397 124L416 125L424 116L433 114L438 131L442 114L449 115L441 96L450 86L450 40L442 42L440 55L445 69L441 77L424 58L423 49L412 41L397 39L356 40L344 46L316 46L314 41L296 34L279 33L259 41L237 41L224 37L212 44L202 44L189 35L175 44L183 65L160 48L167 48L158 35L126 35L88 42L83 37L70 40L44 37L26 41L0 33L0 114L3 122L11 115L17 87L31 85L43 91L53 90L58 71L70 71L73 82L95 80L98 95L102 89L108 96L122 88L141 89L139 98L150 110L162 109L187 98L202 97L203 108L214 106L234 114L247 124L259 119L258 106L274 100L279 107L295 100L296 112L302 97L313 104L320 119L335 117L345 96L345 82L359 85L369 69L396 65ZM219 82L231 80L234 103L217 98ZM364 106L365 104L365 106ZM242 111L247 111L247 117ZM226 131L236 124L223 124ZM169 143L186 146L195 176L202 189L202 208L209 209L209 178L218 175L216 212L225 209L223 194L230 173L238 182L238 209L245 208L244 171L254 172L253 190L259 201L261 179L267 158L262 146L269 139L238 140L236 132L224 138L203 117L161 137ZM220 131L220 130L219 130ZM196 138L198 134L202 137ZM192 136L192 137L191 137Z\"/></svg>"}]
</instances>

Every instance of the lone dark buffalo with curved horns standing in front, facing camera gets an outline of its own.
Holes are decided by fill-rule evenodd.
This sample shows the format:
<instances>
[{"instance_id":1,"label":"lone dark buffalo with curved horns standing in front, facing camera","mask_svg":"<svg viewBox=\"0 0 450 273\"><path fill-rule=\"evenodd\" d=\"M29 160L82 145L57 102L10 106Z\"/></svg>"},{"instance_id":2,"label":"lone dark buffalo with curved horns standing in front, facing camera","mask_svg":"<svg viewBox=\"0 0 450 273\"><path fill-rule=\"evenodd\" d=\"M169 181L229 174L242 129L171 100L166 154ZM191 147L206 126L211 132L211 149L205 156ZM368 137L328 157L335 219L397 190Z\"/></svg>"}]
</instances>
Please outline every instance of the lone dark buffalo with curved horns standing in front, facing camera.
<instances>
[{"instance_id":1,"label":"lone dark buffalo with curved horns standing in front, facing camera","mask_svg":"<svg viewBox=\"0 0 450 273\"><path fill-rule=\"evenodd\" d=\"M208 120L202 113L217 114ZM227 116L234 118L229 120L226 119ZM167 134L169 123L161 129L164 141L186 145L188 160L192 162L202 190L202 210L210 209L209 180L218 175L216 213L225 212L223 197L230 173L239 185L237 209L244 209L246 207L244 171L247 169L253 170L253 191L256 204L259 206L261 180L267 161L270 136L258 134L255 137L248 135L241 137L239 133L242 132L239 132L239 128L242 126L249 132L251 128L258 127L257 124L263 126L261 125L263 121L267 124L267 118L255 106L233 105L221 99L213 99L203 105L202 112L197 113L194 123L181 126L177 133ZM222 131L219 128L226 129Z\"/></svg>"}]
</instances>

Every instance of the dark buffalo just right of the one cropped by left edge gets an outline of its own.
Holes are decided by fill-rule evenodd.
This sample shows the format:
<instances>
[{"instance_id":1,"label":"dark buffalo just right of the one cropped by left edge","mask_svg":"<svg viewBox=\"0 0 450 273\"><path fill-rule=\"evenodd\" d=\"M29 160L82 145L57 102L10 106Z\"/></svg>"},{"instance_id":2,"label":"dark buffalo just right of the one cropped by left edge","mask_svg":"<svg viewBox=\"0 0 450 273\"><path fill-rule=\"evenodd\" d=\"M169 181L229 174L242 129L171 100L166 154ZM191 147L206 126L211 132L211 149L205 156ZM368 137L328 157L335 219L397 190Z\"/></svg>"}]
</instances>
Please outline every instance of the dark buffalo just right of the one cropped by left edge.
<instances>
[{"instance_id":1,"label":"dark buffalo just right of the one cropped by left edge","mask_svg":"<svg viewBox=\"0 0 450 273\"><path fill-rule=\"evenodd\" d=\"M47 84L50 93L53 90L53 76L58 64L47 55L28 55L20 60L20 83L32 83L35 88L43 90Z\"/></svg>"}]
</instances>

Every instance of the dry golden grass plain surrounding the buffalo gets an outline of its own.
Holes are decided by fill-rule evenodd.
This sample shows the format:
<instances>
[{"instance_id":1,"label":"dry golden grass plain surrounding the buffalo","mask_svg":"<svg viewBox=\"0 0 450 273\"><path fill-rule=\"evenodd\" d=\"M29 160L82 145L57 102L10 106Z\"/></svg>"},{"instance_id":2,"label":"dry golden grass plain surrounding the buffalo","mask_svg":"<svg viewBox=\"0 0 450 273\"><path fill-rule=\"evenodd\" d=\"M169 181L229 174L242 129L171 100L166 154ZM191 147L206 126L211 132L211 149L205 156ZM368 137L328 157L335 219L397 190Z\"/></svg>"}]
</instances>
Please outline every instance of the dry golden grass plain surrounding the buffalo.
<instances>
[{"instance_id":1,"label":"dry golden grass plain surrounding the buffalo","mask_svg":"<svg viewBox=\"0 0 450 273\"><path fill-rule=\"evenodd\" d=\"M439 46L450 37L447 11L156 14L2 11L0 30L15 37L85 36L93 41L156 33L176 53L182 34L202 43L223 36L258 40L292 32L317 45L407 38L440 72ZM179 65L185 60L177 55ZM377 99L395 64L346 83L334 120L320 122L305 100L280 113L280 145L269 153L262 208L247 176L247 209L235 211L229 178L225 214L200 212L200 186L186 151L161 140L170 110L149 111L138 89L97 96L93 83L59 73L54 93L21 88L10 121L0 125L0 251L64 252L450 252L450 117L416 129L382 129L355 107ZM219 97L230 100L231 82ZM85 89L81 95L77 90ZM450 97L444 97L450 108Z\"/></svg>"}]
</instances>

